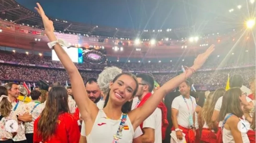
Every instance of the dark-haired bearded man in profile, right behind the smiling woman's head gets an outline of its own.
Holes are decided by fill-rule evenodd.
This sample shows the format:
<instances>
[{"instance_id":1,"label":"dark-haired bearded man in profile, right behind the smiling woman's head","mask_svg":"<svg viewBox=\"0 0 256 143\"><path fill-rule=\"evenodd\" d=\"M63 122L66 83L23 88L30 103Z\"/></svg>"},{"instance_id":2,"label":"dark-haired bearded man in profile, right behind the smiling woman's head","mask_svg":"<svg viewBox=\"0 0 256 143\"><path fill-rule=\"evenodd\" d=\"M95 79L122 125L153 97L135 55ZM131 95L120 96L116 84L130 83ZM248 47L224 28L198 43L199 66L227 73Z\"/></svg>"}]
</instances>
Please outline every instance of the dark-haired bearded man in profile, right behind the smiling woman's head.
<instances>
[{"instance_id":1,"label":"dark-haired bearded man in profile, right behind the smiling woman's head","mask_svg":"<svg viewBox=\"0 0 256 143\"><path fill-rule=\"evenodd\" d=\"M136 96L141 101L137 108L143 105L143 103L151 96L151 92L154 88L154 79L149 74L137 74L136 75L139 87ZM161 143L162 142L162 111L160 108L155 111L143 121L140 125L143 131L141 136L143 143Z\"/></svg>"}]
</instances>

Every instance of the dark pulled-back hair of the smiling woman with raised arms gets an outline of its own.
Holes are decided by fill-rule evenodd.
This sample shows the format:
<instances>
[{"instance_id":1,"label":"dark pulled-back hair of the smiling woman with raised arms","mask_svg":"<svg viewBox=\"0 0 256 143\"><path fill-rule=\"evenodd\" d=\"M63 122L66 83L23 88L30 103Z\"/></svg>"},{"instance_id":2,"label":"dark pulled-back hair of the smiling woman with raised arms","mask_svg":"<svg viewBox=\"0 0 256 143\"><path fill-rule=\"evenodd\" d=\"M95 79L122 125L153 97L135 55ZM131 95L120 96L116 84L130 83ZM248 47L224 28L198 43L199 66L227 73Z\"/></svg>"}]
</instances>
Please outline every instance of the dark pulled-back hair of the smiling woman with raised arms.
<instances>
[{"instance_id":1,"label":"dark pulled-back hair of the smiling woman with raised arms","mask_svg":"<svg viewBox=\"0 0 256 143\"><path fill-rule=\"evenodd\" d=\"M129 76L132 77L133 80L135 80L135 82L136 82L136 88L135 88L135 90L134 90L133 93L132 93L132 97L134 97L134 96L136 95L137 90L138 90L138 87L139 87L139 84L138 84L138 81L137 81L136 76L133 75L133 74L131 74L131 73L120 73L120 74L118 74L118 75L115 77L115 79L114 79L112 82L113 82L113 83L116 82L116 80L117 80L121 75L129 75ZM108 94L107 94L107 96L106 96L106 100L105 100L105 103L104 103L104 107L103 107L103 108L105 108L106 105L107 105L107 102L108 102L108 99L109 99L109 93L110 93L110 90L109 90L109 92L108 92ZM127 101L127 102L122 106L122 109L121 109L122 112L123 112L123 113L128 113L129 111L131 111L131 105L132 105L132 100L131 100L130 102Z\"/></svg>"}]
</instances>

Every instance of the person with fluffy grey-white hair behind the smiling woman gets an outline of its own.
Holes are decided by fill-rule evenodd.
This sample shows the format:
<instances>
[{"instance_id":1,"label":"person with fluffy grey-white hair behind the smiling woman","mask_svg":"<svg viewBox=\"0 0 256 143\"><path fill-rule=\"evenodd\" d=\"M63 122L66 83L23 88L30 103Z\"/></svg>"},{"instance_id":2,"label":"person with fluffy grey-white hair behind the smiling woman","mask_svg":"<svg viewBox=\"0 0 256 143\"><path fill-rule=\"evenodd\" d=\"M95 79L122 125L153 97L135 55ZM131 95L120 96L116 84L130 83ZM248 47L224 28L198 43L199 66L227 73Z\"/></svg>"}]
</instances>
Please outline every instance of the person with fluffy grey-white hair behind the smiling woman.
<instances>
[{"instance_id":1,"label":"person with fluffy grey-white hair behind the smiling woman","mask_svg":"<svg viewBox=\"0 0 256 143\"><path fill-rule=\"evenodd\" d=\"M122 70L117 67L105 67L104 70L98 75L97 84L99 89L101 89L102 92L102 100L97 102L97 107L99 109L103 109L106 95L109 93L109 84L113 81L113 79L118 75L122 73ZM135 130L135 134L133 136L133 143L141 143L140 136L142 135L142 131L140 127L137 127ZM80 143L86 142L86 134L85 134L85 124L82 122L81 127L81 137L80 137Z\"/></svg>"}]
</instances>

